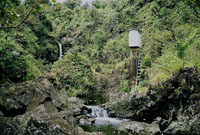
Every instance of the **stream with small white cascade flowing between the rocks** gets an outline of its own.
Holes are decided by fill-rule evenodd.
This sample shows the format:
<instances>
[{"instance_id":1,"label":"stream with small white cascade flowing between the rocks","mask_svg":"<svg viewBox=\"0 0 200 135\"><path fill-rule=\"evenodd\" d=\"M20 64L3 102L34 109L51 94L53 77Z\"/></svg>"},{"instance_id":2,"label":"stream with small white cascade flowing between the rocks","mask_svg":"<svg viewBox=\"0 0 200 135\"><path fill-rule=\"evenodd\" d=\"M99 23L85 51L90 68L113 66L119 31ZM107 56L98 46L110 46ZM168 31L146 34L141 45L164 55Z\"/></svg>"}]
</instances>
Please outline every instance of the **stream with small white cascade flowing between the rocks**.
<instances>
[{"instance_id":1,"label":"stream with small white cascade flowing between the rocks","mask_svg":"<svg viewBox=\"0 0 200 135\"><path fill-rule=\"evenodd\" d=\"M127 119L111 118L108 116L106 109L101 108L96 103L105 102L103 97L87 99L92 105L87 104L87 108L91 110L86 114L87 119L80 119L80 126L87 132L103 132L105 135L112 135L114 128L121 122L128 121ZM86 102L88 103L88 102Z\"/></svg>"}]
</instances>

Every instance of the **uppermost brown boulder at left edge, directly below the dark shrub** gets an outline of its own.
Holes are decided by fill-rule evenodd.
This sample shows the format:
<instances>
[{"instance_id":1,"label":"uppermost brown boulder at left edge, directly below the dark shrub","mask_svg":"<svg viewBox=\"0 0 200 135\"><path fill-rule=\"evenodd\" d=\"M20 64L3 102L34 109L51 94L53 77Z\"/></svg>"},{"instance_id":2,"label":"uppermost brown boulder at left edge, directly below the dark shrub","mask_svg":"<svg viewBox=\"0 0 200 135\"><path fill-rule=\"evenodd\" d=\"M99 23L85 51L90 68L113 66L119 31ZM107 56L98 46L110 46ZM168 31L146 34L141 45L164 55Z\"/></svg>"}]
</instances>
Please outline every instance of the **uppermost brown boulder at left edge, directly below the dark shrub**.
<instances>
[{"instance_id":1,"label":"uppermost brown boulder at left edge, directly below the dark shrub","mask_svg":"<svg viewBox=\"0 0 200 135\"><path fill-rule=\"evenodd\" d=\"M46 78L1 89L0 111L5 117L25 114L32 106L40 104L49 97L52 90L53 87Z\"/></svg>"}]
</instances>

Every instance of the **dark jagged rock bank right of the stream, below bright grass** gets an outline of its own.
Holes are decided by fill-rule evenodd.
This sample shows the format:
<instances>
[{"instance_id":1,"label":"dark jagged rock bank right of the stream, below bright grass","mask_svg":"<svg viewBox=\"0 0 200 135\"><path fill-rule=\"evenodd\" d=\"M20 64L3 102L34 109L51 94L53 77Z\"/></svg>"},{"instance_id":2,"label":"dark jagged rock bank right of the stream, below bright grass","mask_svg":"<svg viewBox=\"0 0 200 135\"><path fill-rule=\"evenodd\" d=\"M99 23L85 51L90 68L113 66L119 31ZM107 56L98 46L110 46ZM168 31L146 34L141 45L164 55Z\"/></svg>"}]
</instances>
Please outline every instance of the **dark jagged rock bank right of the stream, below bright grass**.
<instances>
[{"instance_id":1,"label":"dark jagged rock bank right of the stream, below bright grass","mask_svg":"<svg viewBox=\"0 0 200 135\"><path fill-rule=\"evenodd\" d=\"M124 116L134 121L159 124L165 134L200 134L200 73L194 68L184 68L168 81L134 93L124 102L108 108L117 116L126 110Z\"/></svg>"}]
</instances>

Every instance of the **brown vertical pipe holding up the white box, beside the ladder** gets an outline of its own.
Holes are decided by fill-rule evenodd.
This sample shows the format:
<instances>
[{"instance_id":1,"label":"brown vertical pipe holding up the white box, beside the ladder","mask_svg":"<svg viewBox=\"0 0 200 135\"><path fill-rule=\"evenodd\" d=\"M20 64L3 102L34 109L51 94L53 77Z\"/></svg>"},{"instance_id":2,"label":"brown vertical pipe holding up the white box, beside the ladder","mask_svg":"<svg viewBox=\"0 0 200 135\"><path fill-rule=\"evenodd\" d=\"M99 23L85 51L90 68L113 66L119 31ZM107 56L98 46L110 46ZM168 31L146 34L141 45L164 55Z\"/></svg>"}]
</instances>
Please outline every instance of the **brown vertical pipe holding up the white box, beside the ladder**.
<instances>
[{"instance_id":1,"label":"brown vertical pipe holding up the white box, beside the ladder","mask_svg":"<svg viewBox=\"0 0 200 135\"><path fill-rule=\"evenodd\" d=\"M136 85L137 75L137 50L130 48L130 86Z\"/></svg>"}]
</instances>

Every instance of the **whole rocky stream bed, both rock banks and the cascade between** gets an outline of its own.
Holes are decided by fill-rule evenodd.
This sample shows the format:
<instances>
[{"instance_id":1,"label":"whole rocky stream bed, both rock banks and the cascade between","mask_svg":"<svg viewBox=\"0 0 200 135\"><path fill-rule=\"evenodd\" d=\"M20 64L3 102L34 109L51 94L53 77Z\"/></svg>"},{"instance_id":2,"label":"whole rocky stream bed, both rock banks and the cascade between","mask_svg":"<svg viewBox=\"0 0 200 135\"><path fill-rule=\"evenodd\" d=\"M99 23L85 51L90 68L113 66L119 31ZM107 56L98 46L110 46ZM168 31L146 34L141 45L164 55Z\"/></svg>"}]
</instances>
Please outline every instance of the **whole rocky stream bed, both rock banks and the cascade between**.
<instances>
[{"instance_id":1,"label":"whole rocky stream bed, both rock banks and the cascade between","mask_svg":"<svg viewBox=\"0 0 200 135\"><path fill-rule=\"evenodd\" d=\"M51 77L40 77L1 86L1 135L200 134L200 74L193 68L99 106L68 97L53 84Z\"/></svg>"}]
</instances>

